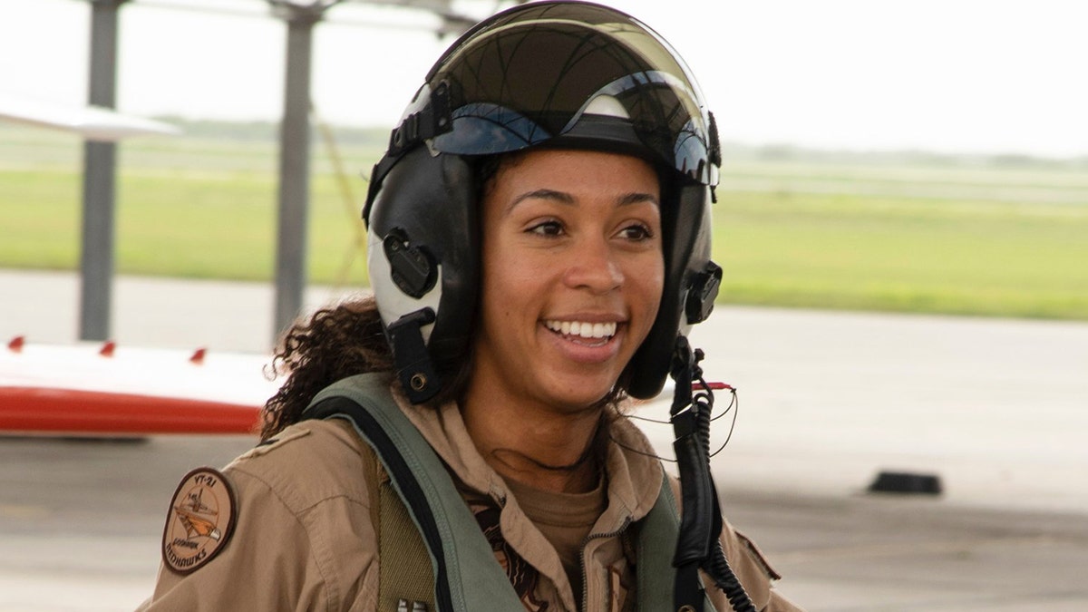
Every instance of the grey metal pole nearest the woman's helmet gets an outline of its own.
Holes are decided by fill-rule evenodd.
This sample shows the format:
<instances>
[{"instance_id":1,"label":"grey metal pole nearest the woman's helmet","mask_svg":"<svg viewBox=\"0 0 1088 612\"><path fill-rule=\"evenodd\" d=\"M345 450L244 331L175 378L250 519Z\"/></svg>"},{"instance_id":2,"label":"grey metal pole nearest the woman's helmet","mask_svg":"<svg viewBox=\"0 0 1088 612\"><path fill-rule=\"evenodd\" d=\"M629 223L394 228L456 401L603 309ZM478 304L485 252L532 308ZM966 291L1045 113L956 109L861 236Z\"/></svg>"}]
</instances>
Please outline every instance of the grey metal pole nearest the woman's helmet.
<instances>
[{"instance_id":1,"label":"grey metal pole nearest the woman's helmet","mask_svg":"<svg viewBox=\"0 0 1088 612\"><path fill-rule=\"evenodd\" d=\"M313 25L321 12L289 8L284 113L280 128L280 216L275 265L273 341L302 309L306 232L310 192L310 58Z\"/></svg>"}]
</instances>

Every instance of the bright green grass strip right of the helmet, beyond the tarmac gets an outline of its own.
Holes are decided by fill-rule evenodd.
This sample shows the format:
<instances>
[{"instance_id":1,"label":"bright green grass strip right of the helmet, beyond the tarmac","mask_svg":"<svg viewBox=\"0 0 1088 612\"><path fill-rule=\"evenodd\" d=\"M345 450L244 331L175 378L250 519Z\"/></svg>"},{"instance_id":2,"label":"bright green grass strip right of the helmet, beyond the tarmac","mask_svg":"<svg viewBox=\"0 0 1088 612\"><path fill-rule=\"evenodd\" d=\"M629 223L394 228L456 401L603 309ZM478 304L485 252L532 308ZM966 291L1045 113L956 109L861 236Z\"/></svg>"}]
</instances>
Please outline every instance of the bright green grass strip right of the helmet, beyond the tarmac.
<instances>
[{"instance_id":1,"label":"bright green grass strip right of the helmet, beyond the tarmac","mask_svg":"<svg viewBox=\"0 0 1088 612\"><path fill-rule=\"evenodd\" d=\"M721 194L741 304L1088 318L1088 207Z\"/></svg>"}]
</instances>

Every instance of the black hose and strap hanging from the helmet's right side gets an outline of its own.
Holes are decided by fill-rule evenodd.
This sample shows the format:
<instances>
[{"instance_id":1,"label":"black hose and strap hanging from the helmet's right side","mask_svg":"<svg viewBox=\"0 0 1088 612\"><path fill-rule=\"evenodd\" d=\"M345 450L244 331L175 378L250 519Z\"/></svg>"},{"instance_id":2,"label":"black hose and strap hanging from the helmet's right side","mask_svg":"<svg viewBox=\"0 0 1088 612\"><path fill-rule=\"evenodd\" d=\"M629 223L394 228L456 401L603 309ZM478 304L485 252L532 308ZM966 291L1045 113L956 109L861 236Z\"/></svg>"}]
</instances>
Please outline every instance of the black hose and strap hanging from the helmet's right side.
<instances>
[{"instance_id":1,"label":"black hose and strap hanging from the helmet's right side","mask_svg":"<svg viewBox=\"0 0 1088 612\"><path fill-rule=\"evenodd\" d=\"M752 600L741 586L721 550L721 509L710 478L710 406L713 391L703 380L701 350L692 351L683 335L677 336L669 375L676 381L669 420L676 440L672 449L680 472L683 511L680 536L672 565L677 568L673 609L702 612L704 593L698 579L702 568L726 593L738 612L755 612ZM697 393L692 393L692 389Z\"/></svg>"}]
</instances>

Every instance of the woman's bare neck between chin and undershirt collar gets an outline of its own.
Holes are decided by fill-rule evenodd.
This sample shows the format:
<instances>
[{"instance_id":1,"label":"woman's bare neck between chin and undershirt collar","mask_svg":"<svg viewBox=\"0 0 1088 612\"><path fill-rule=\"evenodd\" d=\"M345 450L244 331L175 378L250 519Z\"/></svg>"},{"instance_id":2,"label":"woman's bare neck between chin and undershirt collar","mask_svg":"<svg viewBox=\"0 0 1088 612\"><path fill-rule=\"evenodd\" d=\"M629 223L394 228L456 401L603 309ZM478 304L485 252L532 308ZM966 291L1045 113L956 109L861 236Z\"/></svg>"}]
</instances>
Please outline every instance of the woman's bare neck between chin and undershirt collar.
<instances>
[{"instance_id":1,"label":"woman's bare neck between chin and undershirt collar","mask_svg":"<svg viewBox=\"0 0 1088 612\"><path fill-rule=\"evenodd\" d=\"M597 486L593 446L602 413L603 408L592 407L556 414L473 395L471 390L461 402L469 436L499 476L566 493L584 493Z\"/></svg>"}]
</instances>

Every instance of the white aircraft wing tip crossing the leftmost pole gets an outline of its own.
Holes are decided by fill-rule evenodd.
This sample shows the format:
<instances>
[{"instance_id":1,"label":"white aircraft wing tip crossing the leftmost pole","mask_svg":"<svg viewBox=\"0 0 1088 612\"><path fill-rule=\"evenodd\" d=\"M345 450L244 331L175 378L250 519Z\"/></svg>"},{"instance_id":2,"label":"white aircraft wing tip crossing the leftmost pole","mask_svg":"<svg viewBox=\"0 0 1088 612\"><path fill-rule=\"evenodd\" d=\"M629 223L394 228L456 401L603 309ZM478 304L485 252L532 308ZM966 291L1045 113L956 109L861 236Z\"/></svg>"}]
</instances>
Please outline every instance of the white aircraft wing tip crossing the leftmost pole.
<instances>
[{"instance_id":1,"label":"white aircraft wing tip crossing the leftmost pole","mask_svg":"<svg viewBox=\"0 0 1088 612\"><path fill-rule=\"evenodd\" d=\"M95 106L64 106L0 94L0 120L81 134L88 140L114 142L129 136L176 135L174 125L122 114Z\"/></svg>"}]
</instances>

